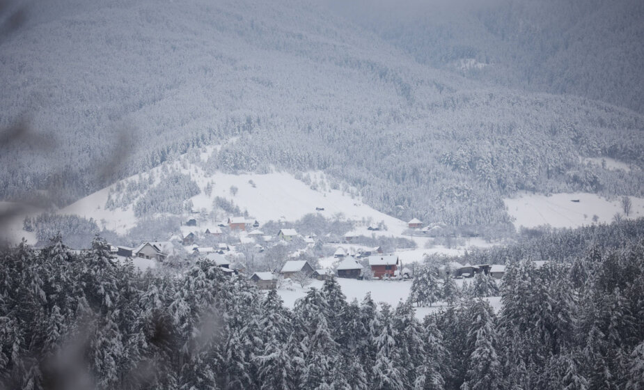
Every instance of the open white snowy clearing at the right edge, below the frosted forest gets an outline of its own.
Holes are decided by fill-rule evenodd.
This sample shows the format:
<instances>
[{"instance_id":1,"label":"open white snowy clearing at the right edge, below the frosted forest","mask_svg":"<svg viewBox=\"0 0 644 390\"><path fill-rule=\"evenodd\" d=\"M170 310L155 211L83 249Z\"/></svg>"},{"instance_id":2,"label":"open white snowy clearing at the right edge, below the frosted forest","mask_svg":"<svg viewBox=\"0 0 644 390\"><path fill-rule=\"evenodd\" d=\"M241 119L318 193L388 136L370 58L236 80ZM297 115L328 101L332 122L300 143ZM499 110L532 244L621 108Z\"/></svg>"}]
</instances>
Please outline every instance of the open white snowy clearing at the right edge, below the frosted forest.
<instances>
[{"instance_id":1,"label":"open white snowy clearing at the right edge, below the frosted forest","mask_svg":"<svg viewBox=\"0 0 644 390\"><path fill-rule=\"evenodd\" d=\"M632 206L629 218L644 216L644 198L630 198ZM517 228L544 224L553 228L576 228L592 224L594 215L597 215L599 222L606 223L610 223L618 212L626 217L619 198L608 200L595 194L519 194L503 201L508 207L508 213L515 219Z\"/></svg>"}]
</instances>

